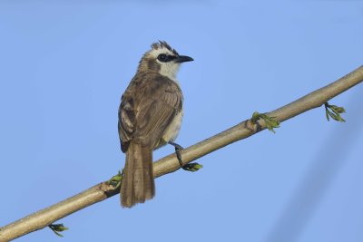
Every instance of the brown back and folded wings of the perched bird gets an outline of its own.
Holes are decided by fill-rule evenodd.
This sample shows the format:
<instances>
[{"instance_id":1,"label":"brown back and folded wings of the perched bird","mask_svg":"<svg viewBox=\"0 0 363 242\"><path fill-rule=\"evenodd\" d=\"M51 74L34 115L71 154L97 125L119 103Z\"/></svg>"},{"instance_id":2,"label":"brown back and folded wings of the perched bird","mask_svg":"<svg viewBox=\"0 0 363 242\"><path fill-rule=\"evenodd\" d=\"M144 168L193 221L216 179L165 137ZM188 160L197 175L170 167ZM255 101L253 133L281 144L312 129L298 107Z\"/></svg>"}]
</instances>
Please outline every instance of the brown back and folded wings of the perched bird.
<instances>
[{"instance_id":1,"label":"brown back and folded wings of the perched bird","mask_svg":"<svg viewBox=\"0 0 363 242\"><path fill-rule=\"evenodd\" d=\"M159 73L137 73L123 93L119 108L119 136L125 152L130 140L154 146L182 110L182 91Z\"/></svg>"}]
</instances>

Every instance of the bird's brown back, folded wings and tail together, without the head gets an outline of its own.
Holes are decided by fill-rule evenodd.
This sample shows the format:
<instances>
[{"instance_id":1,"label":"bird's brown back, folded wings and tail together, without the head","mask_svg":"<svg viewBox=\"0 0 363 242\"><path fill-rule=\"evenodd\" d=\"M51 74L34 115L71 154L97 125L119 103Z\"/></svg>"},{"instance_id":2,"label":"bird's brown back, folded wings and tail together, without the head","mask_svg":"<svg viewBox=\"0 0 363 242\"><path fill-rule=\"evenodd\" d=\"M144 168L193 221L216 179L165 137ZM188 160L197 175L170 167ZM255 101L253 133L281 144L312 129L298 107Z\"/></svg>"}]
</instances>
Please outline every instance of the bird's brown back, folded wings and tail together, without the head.
<instances>
[{"instance_id":1,"label":"bird's brown back, folded wings and tail together, without the head","mask_svg":"<svg viewBox=\"0 0 363 242\"><path fill-rule=\"evenodd\" d=\"M152 150L162 143L163 133L181 110L180 87L156 72L137 73L124 92L119 108L119 135L126 152L123 207L154 196Z\"/></svg>"}]
</instances>

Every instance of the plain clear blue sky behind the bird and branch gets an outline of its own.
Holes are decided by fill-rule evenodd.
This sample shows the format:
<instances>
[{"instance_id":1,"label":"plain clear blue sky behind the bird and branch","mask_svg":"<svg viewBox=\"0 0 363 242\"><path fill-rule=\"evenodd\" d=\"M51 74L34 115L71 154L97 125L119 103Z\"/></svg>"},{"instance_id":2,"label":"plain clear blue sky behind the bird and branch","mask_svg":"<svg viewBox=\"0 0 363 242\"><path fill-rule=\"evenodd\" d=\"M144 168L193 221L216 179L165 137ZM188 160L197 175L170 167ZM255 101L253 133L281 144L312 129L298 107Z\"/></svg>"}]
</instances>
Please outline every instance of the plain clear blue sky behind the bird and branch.
<instances>
[{"instance_id":1,"label":"plain clear blue sky behind the bird and branch","mask_svg":"<svg viewBox=\"0 0 363 242\"><path fill-rule=\"evenodd\" d=\"M123 168L120 97L150 44L190 55L178 75L184 147L362 64L360 1L1 1L0 226ZM17 241L362 241L363 86ZM154 152L154 160L173 151Z\"/></svg>"}]
</instances>

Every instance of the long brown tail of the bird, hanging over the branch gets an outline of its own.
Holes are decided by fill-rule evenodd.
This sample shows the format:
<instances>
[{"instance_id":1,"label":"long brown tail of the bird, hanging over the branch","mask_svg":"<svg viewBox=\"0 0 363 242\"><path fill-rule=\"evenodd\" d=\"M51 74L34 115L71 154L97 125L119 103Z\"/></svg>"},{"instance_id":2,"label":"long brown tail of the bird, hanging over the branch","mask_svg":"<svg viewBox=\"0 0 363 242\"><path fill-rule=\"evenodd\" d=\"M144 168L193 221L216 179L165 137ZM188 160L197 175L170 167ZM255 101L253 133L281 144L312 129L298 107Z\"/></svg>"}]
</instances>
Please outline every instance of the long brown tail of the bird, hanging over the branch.
<instances>
[{"instance_id":1,"label":"long brown tail of the bird, hanging over the branch","mask_svg":"<svg viewBox=\"0 0 363 242\"><path fill-rule=\"evenodd\" d=\"M152 148L131 141L121 184L121 205L131 208L155 195L152 172Z\"/></svg>"}]
</instances>

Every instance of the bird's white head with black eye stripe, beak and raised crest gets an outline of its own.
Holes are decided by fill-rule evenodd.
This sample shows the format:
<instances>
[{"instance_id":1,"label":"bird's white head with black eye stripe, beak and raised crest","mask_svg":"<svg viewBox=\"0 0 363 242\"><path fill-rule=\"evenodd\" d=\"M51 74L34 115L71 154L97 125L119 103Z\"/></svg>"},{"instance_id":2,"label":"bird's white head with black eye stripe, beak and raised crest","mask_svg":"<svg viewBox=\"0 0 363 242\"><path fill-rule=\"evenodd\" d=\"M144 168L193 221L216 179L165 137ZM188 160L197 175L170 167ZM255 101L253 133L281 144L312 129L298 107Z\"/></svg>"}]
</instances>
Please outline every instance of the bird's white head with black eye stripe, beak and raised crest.
<instances>
[{"instance_id":1,"label":"bird's white head with black eye stripe, beak and raised crest","mask_svg":"<svg viewBox=\"0 0 363 242\"><path fill-rule=\"evenodd\" d=\"M175 79L181 63L191 62L193 59L180 55L164 41L152 44L152 50L142 56L138 72L154 71L171 79Z\"/></svg>"}]
</instances>

